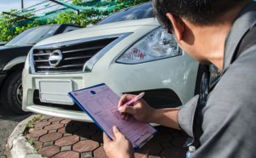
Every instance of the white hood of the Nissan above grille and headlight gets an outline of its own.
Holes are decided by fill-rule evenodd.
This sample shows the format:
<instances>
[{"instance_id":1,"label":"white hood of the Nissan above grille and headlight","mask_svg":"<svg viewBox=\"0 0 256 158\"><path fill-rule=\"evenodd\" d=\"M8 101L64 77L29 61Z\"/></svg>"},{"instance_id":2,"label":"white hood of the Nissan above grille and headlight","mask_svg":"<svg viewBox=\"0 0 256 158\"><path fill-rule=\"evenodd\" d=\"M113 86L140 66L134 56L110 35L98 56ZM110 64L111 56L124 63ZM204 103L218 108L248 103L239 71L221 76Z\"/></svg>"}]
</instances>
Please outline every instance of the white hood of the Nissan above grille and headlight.
<instances>
[{"instance_id":1,"label":"white hood of the Nissan above grille and headlight","mask_svg":"<svg viewBox=\"0 0 256 158\"><path fill-rule=\"evenodd\" d=\"M70 31L67 33L62 33L53 37L46 38L43 41L38 42L35 46L52 44L55 42L66 42L86 37L97 37L103 35L132 32L135 31L137 28L141 28L145 25L152 25L154 27L160 26L159 22L154 18L148 18L143 20L126 20L108 23L104 25L94 25L76 31Z\"/></svg>"}]
</instances>

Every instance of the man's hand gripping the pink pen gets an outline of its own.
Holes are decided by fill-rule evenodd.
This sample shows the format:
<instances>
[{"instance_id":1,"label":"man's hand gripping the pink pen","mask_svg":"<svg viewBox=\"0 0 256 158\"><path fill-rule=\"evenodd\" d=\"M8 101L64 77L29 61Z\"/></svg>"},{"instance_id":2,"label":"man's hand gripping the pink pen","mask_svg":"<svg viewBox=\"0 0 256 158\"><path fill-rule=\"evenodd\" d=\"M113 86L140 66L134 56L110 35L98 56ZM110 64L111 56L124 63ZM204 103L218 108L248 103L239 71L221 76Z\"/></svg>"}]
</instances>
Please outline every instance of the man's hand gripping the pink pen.
<instances>
[{"instance_id":1,"label":"man's hand gripping the pink pen","mask_svg":"<svg viewBox=\"0 0 256 158\"><path fill-rule=\"evenodd\" d=\"M133 105L131 104L131 106L122 106L135 97L136 95L125 94L119 100L119 111L121 112L123 119L128 120L129 116L132 115L138 121L143 121L146 123L152 122L155 110L151 108L143 99L138 99Z\"/></svg>"}]
</instances>

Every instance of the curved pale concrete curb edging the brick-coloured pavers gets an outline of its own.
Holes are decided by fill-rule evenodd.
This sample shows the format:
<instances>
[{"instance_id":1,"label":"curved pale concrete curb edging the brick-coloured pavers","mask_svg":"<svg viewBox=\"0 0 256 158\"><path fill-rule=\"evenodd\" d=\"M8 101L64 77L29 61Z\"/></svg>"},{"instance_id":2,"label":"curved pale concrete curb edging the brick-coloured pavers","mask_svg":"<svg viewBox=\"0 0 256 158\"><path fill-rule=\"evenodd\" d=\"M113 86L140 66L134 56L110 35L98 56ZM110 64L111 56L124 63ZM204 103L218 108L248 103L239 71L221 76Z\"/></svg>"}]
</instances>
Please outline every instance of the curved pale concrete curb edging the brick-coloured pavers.
<instances>
[{"instance_id":1,"label":"curved pale concrete curb edging the brick-coloured pavers","mask_svg":"<svg viewBox=\"0 0 256 158\"><path fill-rule=\"evenodd\" d=\"M42 158L36 150L29 144L23 134L26 129L26 124L31 121L32 118L38 115L32 115L27 117L24 121L15 127L15 130L10 134L7 141L7 155L11 158Z\"/></svg>"}]
</instances>

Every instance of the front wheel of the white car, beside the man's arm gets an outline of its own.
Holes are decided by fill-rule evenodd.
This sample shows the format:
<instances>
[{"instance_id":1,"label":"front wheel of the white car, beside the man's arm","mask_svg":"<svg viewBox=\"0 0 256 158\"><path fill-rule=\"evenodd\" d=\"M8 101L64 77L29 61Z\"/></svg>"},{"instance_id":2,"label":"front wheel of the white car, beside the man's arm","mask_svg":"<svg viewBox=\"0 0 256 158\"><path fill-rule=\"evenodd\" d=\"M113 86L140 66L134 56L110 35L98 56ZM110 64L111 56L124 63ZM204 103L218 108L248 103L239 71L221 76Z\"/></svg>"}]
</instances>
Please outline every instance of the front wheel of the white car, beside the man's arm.
<instances>
[{"instance_id":1,"label":"front wheel of the white car, beside the man's arm","mask_svg":"<svg viewBox=\"0 0 256 158\"><path fill-rule=\"evenodd\" d=\"M195 84L195 95L199 94L199 104L207 103L209 93L209 72L206 65L199 65Z\"/></svg>"}]
</instances>

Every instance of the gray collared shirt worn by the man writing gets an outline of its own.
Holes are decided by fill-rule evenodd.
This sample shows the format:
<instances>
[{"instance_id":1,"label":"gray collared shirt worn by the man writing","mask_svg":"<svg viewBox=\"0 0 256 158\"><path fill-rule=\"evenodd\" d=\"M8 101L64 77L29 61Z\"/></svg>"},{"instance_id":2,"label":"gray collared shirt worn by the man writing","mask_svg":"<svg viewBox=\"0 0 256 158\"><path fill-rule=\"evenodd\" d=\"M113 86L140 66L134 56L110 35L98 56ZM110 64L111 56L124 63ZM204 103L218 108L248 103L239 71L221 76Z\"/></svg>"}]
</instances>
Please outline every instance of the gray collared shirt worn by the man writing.
<instances>
[{"instance_id":1,"label":"gray collared shirt worn by the man writing","mask_svg":"<svg viewBox=\"0 0 256 158\"><path fill-rule=\"evenodd\" d=\"M224 71L207 104L201 108L195 96L179 111L183 131L191 137L201 132L201 147L192 158L256 157L255 24L256 3L251 2L226 37Z\"/></svg>"}]
</instances>

